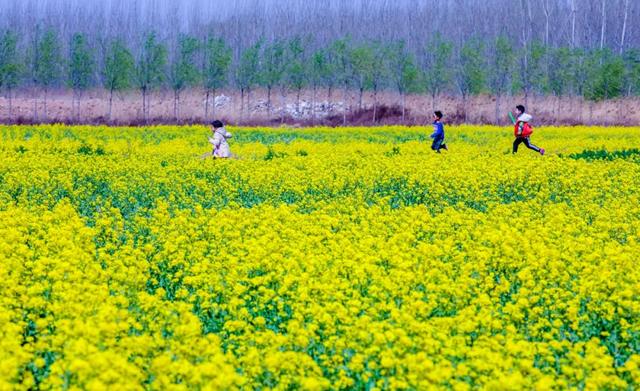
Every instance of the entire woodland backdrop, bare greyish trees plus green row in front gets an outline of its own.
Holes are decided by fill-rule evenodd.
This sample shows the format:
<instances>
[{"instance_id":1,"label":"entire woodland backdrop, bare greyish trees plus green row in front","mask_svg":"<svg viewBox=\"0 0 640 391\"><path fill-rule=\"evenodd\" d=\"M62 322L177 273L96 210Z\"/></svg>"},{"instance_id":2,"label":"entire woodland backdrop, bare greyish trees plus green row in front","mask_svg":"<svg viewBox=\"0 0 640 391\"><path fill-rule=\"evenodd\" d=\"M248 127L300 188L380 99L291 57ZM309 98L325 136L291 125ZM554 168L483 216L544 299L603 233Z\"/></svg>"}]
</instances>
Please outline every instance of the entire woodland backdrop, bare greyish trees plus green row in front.
<instances>
[{"instance_id":1,"label":"entire woodland backdrop, bare greyish trees plus green row in front","mask_svg":"<svg viewBox=\"0 0 640 391\"><path fill-rule=\"evenodd\" d=\"M0 0L0 89L327 88L578 95L640 93L630 0ZM315 93L314 93L315 97ZM375 102L375 99L374 99ZM11 105L11 103L10 103ZM34 117L38 117L34 103ZM111 107L111 104L109 105ZM205 104L205 110L209 107ZM243 106L244 107L244 106ZM11 111L11 107L9 108ZM111 110L109 110L110 116ZM208 115L208 113L207 113ZM374 103L375 117L375 103ZM345 117L346 121L346 117Z\"/></svg>"}]
</instances>

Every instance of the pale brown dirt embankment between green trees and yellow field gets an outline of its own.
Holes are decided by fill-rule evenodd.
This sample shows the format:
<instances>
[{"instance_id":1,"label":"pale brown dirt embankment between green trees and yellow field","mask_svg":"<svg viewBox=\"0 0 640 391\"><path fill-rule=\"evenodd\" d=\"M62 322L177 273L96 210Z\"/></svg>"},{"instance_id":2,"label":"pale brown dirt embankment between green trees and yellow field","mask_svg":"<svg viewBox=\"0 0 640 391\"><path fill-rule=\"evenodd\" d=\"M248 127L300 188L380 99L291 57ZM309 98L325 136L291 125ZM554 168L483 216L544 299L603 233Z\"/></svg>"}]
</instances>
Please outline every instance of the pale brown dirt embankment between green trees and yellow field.
<instances>
[{"instance_id":1,"label":"pale brown dirt embankment between green trees and yellow field","mask_svg":"<svg viewBox=\"0 0 640 391\"><path fill-rule=\"evenodd\" d=\"M84 94L79 115L73 110L72 92L49 92L46 113L43 96L39 91L19 91L14 93L11 102L6 96L0 97L0 122L115 125L141 125L145 122L142 98L135 92L114 97L111 118L108 116L109 95L103 90ZM451 124L496 123L496 98L491 96L473 97L465 104L459 97L442 96L434 103L430 96L410 95L406 98L404 116L400 101L398 94L392 92L380 93L376 100L367 93L360 104L359 95L355 92L345 96L342 91L330 93L322 90L315 94L315 98L312 91L303 91L299 99L295 93L285 96L272 94L269 105L266 91L245 93L241 99L238 91L225 90L218 92L215 99L210 97L208 105L205 105L205 94L190 90L180 97L176 119L173 92L158 91L151 95L148 123L203 123L220 118L239 125L414 125L430 122L434 108L443 111L445 120ZM640 125L639 99L591 103L579 98L540 96L527 99L522 96L502 97L497 122L508 123L507 112L520 103L527 105L539 125Z\"/></svg>"}]
</instances>

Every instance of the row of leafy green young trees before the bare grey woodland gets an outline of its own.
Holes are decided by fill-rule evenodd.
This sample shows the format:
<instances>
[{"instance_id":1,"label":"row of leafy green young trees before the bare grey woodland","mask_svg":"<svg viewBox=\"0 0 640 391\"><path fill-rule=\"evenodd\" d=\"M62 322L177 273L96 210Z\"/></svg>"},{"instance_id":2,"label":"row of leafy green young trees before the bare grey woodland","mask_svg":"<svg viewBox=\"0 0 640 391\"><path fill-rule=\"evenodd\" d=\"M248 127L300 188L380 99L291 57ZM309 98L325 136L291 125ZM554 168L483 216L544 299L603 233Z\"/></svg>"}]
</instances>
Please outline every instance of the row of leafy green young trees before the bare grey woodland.
<instances>
[{"instance_id":1,"label":"row of leafy green young trees before the bare grey woodland","mask_svg":"<svg viewBox=\"0 0 640 391\"><path fill-rule=\"evenodd\" d=\"M97 43L96 43L97 42ZM415 45L413 45L415 46ZM272 95L303 89L358 92L396 91L404 107L409 93L426 93L434 105L442 94L488 93L496 99L496 118L505 95L580 96L590 101L640 95L640 50L579 48L547 45L533 39L514 43L506 35L493 39L472 36L463 42L435 33L423 44L409 47L398 40L355 39L349 36L318 44L310 35L258 38L236 54L233 42L220 35L180 33L162 39L148 31L133 44L123 38L63 36L54 28L35 27L30 39L11 29L0 32L0 89L9 97L16 90L39 91L44 100L52 89L74 91L75 111L88 89L114 93L139 90L145 119L149 92L171 89L174 115L180 115L180 94L202 88L208 102L216 91L235 88L242 105L256 88ZM209 104L205 105L209 110ZM38 118L34 104L34 118ZM111 107L111 105L109 105ZM11 110L11 108L9 108ZM215 109L211 105L211 111ZM466 111L466 110L465 110ZM109 109L109 118L111 108ZM206 117L214 115L207 112Z\"/></svg>"}]
</instances>

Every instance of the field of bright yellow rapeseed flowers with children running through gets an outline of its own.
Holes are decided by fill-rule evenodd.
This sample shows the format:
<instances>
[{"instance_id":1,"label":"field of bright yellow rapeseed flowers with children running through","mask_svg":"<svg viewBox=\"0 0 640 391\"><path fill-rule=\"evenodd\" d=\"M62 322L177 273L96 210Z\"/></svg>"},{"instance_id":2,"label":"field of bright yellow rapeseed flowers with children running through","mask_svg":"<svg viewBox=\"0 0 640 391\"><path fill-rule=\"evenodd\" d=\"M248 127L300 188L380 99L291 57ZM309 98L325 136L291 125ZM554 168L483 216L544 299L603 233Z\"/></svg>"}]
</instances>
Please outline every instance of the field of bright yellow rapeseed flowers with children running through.
<instances>
[{"instance_id":1,"label":"field of bright yellow rapeseed flowers with children running through","mask_svg":"<svg viewBox=\"0 0 640 391\"><path fill-rule=\"evenodd\" d=\"M0 389L640 387L640 128L0 128Z\"/></svg>"}]
</instances>

